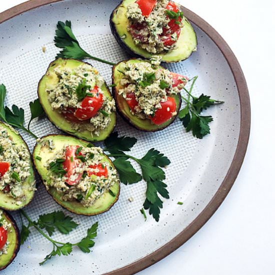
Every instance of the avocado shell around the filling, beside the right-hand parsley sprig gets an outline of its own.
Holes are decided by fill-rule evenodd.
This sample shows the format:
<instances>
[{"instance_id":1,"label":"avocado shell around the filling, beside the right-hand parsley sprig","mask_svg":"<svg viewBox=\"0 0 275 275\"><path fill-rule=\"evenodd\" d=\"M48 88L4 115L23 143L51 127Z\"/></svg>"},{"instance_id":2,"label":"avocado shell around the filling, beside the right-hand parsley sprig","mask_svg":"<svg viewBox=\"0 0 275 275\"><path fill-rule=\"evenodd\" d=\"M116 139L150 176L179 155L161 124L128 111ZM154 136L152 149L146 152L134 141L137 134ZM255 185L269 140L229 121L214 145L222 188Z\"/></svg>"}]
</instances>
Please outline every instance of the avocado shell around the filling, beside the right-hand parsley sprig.
<instances>
[{"instance_id":1,"label":"avocado shell around the filling, beside the right-hand parsley sprig","mask_svg":"<svg viewBox=\"0 0 275 275\"><path fill-rule=\"evenodd\" d=\"M112 95L115 100L116 111L122 116L122 118L128 122L130 125L134 126L138 130L142 131L159 131L163 130L167 126L169 126L176 118L174 115L171 119L167 120L166 122L156 125L151 122L150 119L141 119L136 115L133 115L130 111L130 108L127 104L127 101L123 98L123 96L118 94L118 90L122 88L120 85L120 79L123 77L123 74L119 72L119 70L123 70L124 63L136 63L136 62L149 62L148 60L141 60L141 59L128 59L121 61L112 67ZM157 66L158 68L163 68L161 66ZM172 94L170 95L174 98L176 103L176 113L178 113L180 106L181 106L181 96L180 94Z\"/></svg>"}]
</instances>

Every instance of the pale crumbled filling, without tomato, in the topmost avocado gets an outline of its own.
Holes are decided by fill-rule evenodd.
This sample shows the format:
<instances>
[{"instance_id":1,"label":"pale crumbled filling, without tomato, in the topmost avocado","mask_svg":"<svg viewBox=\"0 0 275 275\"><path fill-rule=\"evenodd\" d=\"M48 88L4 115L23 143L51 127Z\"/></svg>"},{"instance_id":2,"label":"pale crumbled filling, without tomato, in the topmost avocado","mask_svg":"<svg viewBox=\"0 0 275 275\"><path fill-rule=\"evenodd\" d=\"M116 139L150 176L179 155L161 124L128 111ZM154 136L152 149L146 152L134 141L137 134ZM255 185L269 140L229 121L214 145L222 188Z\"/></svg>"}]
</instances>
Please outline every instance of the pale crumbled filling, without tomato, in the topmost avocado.
<instances>
[{"instance_id":1,"label":"pale crumbled filling, without tomato, in the topmost avocado","mask_svg":"<svg viewBox=\"0 0 275 275\"><path fill-rule=\"evenodd\" d=\"M168 24L171 19L165 13L168 2L168 0L157 0L148 16L142 15L136 2L127 6L126 15L129 20L127 29L131 32L135 44L150 53L168 52L176 47L176 43L163 43L170 34L172 34L171 40L178 39L176 32L172 32ZM182 27L182 22L178 21L178 25Z\"/></svg>"}]
</instances>

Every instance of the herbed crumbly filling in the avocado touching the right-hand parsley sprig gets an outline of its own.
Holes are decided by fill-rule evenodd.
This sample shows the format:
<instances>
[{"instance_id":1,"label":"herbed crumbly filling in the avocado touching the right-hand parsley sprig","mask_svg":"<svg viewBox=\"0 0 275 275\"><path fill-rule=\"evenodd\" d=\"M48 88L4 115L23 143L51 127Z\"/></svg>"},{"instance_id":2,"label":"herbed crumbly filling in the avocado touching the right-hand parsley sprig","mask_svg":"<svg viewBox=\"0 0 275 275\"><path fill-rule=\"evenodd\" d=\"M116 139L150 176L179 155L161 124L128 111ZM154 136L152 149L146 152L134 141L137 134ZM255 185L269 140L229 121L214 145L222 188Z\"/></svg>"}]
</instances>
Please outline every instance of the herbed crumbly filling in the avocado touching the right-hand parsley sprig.
<instances>
[{"instance_id":1,"label":"herbed crumbly filling in the avocado touching the right-hand parsley sprig","mask_svg":"<svg viewBox=\"0 0 275 275\"><path fill-rule=\"evenodd\" d=\"M174 73L157 64L157 57L152 58L153 64L147 61L126 62L123 64L122 77L120 78L120 94L128 102L133 95L135 106L130 107L132 114L141 119L147 119L161 108L161 102L165 102L171 94L177 94L185 85L187 78L180 76L177 85L174 84ZM176 115L176 111L172 116Z\"/></svg>"}]
</instances>

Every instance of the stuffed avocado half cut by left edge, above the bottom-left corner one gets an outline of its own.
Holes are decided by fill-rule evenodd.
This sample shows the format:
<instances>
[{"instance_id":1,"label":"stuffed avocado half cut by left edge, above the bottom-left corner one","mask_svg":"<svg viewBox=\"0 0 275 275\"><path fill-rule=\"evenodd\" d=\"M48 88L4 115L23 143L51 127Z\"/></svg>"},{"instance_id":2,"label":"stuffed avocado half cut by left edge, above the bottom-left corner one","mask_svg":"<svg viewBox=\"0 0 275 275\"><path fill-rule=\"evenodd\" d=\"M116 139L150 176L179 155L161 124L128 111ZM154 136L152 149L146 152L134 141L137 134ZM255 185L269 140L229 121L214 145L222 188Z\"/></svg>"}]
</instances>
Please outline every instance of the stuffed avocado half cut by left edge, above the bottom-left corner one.
<instances>
[{"instance_id":1,"label":"stuffed avocado half cut by left edge, above the bottom-left corner one","mask_svg":"<svg viewBox=\"0 0 275 275\"><path fill-rule=\"evenodd\" d=\"M19 133L0 122L0 208L18 210L35 192L31 155Z\"/></svg>"}]
</instances>

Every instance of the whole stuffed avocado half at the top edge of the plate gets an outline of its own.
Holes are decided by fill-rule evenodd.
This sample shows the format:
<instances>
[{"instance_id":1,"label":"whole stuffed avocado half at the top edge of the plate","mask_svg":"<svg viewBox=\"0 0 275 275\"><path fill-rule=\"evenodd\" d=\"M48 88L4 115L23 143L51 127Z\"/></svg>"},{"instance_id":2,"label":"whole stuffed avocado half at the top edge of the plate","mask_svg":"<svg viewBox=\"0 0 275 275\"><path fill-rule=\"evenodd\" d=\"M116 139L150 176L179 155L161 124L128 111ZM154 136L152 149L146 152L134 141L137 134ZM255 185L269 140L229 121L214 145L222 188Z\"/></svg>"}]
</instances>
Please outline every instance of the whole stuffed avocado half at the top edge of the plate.
<instances>
[{"instance_id":1,"label":"whole stuffed avocado half at the top edge of the plate","mask_svg":"<svg viewBox=\"0 0 275 275\"><path fill-rule=\"evenodd\" d=\"M196 34L181 5L169 0L122 0L110 16L117 42L129 54L159 54L162 62L178 62L196 50Z\"/></svg>"}]
</instances>

